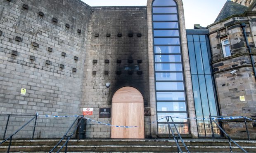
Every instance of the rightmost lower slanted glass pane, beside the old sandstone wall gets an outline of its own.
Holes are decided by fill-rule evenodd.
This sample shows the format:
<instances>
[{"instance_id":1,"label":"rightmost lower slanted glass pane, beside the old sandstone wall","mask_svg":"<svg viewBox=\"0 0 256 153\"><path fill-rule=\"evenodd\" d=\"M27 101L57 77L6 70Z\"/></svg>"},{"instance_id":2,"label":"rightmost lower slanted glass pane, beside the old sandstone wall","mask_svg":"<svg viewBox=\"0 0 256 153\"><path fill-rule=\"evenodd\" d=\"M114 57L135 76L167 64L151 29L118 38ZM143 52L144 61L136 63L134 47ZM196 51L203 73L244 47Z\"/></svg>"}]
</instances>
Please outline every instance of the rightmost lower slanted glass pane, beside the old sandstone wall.
<instances>
[{"instance_id":1,"label":"rightmost lower slanted glass pane, beside the old sandstone wall","mask_svg":"<svg viewBox=\"0 0 256 153\"><path fill-rule=\"evenodd\" d=\"M213 80L211 75L205 75L205 79L206 79L206 88L207 88L211 115L216 116L217 108L216 108L216 101L215 101L214 90L213 90Z\"/></svg>"}]
</instances>

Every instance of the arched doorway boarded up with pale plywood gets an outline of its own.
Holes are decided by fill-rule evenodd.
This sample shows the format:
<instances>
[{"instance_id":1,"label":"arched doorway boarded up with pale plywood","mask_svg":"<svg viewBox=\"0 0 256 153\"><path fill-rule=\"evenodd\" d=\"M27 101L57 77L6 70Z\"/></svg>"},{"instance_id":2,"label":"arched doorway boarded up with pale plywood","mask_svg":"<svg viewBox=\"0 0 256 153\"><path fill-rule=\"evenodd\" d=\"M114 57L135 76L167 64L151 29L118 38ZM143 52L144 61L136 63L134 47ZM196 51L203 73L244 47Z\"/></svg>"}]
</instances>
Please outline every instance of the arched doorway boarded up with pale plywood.
<instances>
[{"instance_id":1,"label":"arched doorway boarded up with pale plywood","mask_svg":"<svg viewBox=\"0 0 256 153\"><path fill-rule=\"evenodd\" d=\"M111 127L111 138L144 139L144 102L139 90L123 87L112 98L111 124L138 126Z\"/></svg>"}]
</instances>

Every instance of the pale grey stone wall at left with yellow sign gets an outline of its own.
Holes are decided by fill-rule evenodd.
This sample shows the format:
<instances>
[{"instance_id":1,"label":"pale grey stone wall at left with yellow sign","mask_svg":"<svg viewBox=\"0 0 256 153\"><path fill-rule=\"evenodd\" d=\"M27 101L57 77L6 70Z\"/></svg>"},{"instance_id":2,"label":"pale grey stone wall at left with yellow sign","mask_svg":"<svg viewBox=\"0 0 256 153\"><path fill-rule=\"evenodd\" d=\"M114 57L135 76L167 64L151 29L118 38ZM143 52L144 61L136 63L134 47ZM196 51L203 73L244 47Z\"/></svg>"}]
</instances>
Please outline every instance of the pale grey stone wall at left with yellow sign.
<instances>
[{"instance_id":1,"label":"pale grey stone wall at left with yellow sign","mask_svg":"<svg viewBox=\"0 0 256 153\"><path fill-rule=\"evenodd\" d=\"M90 14L78 0L0 1L0 114L81 113ZM0 139L6 119L0 117ZM7 136L28 119L12 117ZM35 138L62 137L73 120L39 117ZM15 138L31 138L31 130Z\"/></svg>"}]
</instances>

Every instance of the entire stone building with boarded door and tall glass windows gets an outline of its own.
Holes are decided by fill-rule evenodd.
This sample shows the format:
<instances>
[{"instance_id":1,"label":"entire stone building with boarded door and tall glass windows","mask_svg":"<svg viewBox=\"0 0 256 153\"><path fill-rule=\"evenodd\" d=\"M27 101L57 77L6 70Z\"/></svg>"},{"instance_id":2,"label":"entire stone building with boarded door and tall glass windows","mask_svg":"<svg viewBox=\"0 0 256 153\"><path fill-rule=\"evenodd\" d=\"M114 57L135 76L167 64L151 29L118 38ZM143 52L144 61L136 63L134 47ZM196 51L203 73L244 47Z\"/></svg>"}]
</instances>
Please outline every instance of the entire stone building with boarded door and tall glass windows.
<instances>
[{"instance_id":1,"label":"entire stone building with boarded door and tall glass windows","mask_svg":"<svg viewBox=\"0 0 256 153\"><path fill-rule=\"evenodd\" d=\"M186 30L182 0L134 7L2 0L0 114L72 116L92 108L86 117L139 129L88 120L87 138L166 138L167 121L152 123L164 116L180 117L174 122L187 138L211 137L209 115L255 119L255 4L228 1L215 23ZM7 134L29 120L9 119ZM35 138L62 137L74 119L39 116ZM6 120L0 116L0 137ZM255 139L255 124L248 126ZM242 123L223 127L246 136ZM16 138L30 138L32 128ZM221 137L214 124L213 131Z\"/></svg>"}]
</instances>

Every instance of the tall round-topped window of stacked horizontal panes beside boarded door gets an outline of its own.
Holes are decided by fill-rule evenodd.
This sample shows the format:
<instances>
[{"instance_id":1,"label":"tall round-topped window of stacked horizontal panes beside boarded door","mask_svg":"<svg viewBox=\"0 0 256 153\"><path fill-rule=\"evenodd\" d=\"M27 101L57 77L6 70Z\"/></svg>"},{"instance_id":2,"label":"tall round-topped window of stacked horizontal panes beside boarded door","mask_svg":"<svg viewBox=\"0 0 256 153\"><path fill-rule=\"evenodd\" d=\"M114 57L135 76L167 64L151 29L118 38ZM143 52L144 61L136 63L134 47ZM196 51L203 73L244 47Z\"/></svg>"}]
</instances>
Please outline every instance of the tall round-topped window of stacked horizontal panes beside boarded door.
<instances>
[{"instance_id":1,"label":"tall round-topped window of stacked horizontal panes beside boarded door","mask_svg":"<svg viewBox=\"0 0 256 153\"><path fill-rule=\"evenodd\" d=\"M152 14L157 118L186 118L187 103L177 4L174 0L154 0ZM189 134L187 119L173 120L180 134ZM159 134L168 134L166 119L157 124ZM174 127L173 131L177 132Z\"/></svg>"}]
</instances>

